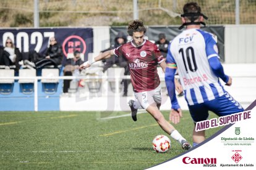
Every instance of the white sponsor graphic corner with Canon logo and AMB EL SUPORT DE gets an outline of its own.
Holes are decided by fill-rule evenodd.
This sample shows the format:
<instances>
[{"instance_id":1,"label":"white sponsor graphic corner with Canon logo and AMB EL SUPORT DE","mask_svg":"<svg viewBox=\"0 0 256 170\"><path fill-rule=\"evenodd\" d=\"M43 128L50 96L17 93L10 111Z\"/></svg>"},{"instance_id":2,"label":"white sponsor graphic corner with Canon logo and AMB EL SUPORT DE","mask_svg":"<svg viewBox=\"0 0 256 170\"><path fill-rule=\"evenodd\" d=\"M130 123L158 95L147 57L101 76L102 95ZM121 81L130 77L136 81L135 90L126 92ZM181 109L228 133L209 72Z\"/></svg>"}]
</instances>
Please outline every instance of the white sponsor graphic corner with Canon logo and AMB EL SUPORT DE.
<instances>
[{"instance_id":1,"label":"white sponsor graphic corner with Canon logo and AMB EL SUPORT DE","mask_svg":"<svg viewBox=\"0 0 256 170\"><path fill-rule=\"evenodd\" d=\"M241 113L198 122L197 131L224 126L207 140L149 169L255 169L256 100Z\"/></svg>"}]
</instances>

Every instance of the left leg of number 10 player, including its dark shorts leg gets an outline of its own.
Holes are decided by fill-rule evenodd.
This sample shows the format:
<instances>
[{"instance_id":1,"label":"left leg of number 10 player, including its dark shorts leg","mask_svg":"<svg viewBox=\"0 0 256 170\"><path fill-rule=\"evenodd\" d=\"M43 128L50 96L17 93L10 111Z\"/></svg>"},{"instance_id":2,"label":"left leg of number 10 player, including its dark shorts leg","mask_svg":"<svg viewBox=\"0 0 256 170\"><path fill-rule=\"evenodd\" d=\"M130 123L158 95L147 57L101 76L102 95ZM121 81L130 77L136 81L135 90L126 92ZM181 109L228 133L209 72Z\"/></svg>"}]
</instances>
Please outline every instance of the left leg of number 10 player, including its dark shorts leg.
<instances>
[{"instance_id":1,"label":"left leg of number 10 player, including its dark shorts leg","mask_svg":"<svg viewBox=\"0 0 256 170\"><path fill-rule=\"evenodd\" d=\"M204 103L200 103L197 105L189 105L189 112L194 121L197 123L198 121L204 121L208 118L208 108L204 105ZM200 144L205 140L205 131L195 131L195 126L193 130L193 146Z\"/></svg>"}]
</instances>

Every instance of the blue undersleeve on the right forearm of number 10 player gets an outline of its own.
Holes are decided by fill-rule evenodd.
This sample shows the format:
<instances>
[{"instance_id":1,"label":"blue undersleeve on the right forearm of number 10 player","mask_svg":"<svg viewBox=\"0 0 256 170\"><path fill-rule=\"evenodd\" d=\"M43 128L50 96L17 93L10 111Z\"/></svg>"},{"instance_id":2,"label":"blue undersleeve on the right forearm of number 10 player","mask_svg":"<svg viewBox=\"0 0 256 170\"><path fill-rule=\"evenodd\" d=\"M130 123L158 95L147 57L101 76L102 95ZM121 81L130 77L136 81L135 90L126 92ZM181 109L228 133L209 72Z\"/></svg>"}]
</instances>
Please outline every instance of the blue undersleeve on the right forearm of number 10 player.
<instances>
[{"instance_id":1,"label":"blue undersleeve on the right forearm of number 10 player","mask_svg":"<svg viewBox=\"0 0 256 170\"><path fill-rule=\"evenodd\" d=\"M223 67L218 57L211 57L210 59L208 59L208 61L209 61L211 70L213 71L215 76L221 78L225 83L227 83L229 77L225 75Z\"/></svg>"}]
</instances>

